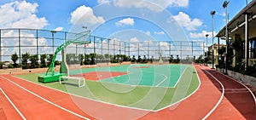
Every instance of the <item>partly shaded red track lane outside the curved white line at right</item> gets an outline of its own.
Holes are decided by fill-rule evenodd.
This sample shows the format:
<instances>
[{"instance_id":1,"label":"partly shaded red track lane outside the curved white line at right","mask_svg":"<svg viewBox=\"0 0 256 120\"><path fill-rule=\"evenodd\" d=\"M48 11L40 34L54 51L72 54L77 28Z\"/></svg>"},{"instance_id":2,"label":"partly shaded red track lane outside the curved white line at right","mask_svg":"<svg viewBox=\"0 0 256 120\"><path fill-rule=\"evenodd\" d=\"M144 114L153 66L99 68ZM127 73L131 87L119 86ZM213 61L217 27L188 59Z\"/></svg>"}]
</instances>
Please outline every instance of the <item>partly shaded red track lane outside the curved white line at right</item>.
<instances>
[{"instance_id":1,"label":"partly shaded red track lane outside the curved white line at right","mask_svg":"<svg viewBox=\"0 0 256 120\"><path fill-rule=\"evenodd\" d=\"M241 83L236 82L233 78L227 77L218 71L208 68L206 71L224 85L224 99L209 119L218 119L219 117L232 120L256 119L256 106L252 91L245 88ZM216 87L221 89L218 86ZM236 113L232 111L236 111Z\"/></svg>"}]
</instances>

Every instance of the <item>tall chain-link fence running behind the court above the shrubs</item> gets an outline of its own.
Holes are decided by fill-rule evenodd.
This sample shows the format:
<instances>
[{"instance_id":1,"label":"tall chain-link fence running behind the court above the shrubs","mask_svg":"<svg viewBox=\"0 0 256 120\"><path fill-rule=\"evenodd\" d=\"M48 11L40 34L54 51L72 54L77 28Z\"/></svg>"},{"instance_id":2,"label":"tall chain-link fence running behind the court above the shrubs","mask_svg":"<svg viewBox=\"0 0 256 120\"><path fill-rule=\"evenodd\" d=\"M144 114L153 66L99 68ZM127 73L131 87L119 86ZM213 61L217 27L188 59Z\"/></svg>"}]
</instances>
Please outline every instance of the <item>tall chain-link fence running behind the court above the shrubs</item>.
<instances>
[{"instance_id":1,"label":"tall chain-link fence running behind the court above the shrubs","mask_svg":"<svg viewBox=\"0 0 256 120\"><path fill-rule=\"evenodd\" d=\"M21 63L22 54L25 53L38 55L38 58L41 54L55 54L55 49L62 43L76 38L81 41L90 40L91 43L85 45L73 44L68 47L67 54L73 54L73 59L79 59L79 54L82 54L85 58L86 54L95 54L96 63L109 62L111 57L118 54L125 54L136 59L139 57L146 58L147 60L159 60L160 55L162 55L164 61L173 57L179 58L183 62L193 60L204 54L204 43L201 41L145 40L134 43L96 36L81 37L84 32L0 29L0 61L12 61L12 54L18 55L17 63ZM57 60L61 60L61 54L57 55ZM40 62L40 59L38 61Z\"/></svg>"}]
</instances>

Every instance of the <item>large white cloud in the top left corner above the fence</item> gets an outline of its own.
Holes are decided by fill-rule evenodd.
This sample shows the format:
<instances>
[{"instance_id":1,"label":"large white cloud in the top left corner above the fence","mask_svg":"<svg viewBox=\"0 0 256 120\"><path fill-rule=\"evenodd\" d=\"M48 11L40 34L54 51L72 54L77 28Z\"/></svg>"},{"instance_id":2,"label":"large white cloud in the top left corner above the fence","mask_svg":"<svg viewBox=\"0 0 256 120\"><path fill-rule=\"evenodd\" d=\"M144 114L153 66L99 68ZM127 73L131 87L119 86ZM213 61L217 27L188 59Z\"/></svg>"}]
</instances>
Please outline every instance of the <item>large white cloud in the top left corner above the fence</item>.
<instances>
[{"instance_id":1,"label":"large white cloud in the top left corner above the fence","mask_svg":"<svg viewBox=\"0 0 256 120\"><path fill-rule=\"evenodd\" d=\"M41 29L48 25L48 21L36 15L38 3L15 1L0 6L0 27L36 28Z\"/></svg>"}]
</instances>

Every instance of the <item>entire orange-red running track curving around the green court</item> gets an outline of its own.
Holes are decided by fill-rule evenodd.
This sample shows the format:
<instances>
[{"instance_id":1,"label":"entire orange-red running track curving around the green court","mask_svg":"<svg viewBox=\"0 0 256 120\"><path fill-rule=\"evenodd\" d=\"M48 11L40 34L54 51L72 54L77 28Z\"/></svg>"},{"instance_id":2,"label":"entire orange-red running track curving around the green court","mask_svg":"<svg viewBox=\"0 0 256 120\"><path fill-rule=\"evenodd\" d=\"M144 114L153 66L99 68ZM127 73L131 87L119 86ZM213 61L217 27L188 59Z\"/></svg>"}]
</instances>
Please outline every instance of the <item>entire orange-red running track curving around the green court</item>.
<instances>
[{"instance_id":1,"label":"entire orange-red running track curving around the green court","mask_svg":"<svg viewBox=\"0 0 256 120\"><path fill-rule=\"evenodd\" d=\"M204 66L202 66L204 67ZM168 107L162 111L151 112L135 110L120 106L113 106L102 102L88 100L62 93L54 89L45 88L38 84L26 82L11 75L4 75L7 79L0 77L0 88L9 96L15 106L26 117L26 119L82 119L68 111L87 117L90 119L202 119L212 111L216 106L216 110L209 114L208 119L255 119L255 103L253 102L252 94L249 94L247 89L242 88L242 85L228 77L207 69L206 71L201 66L195 66L198 76L201 79L201 86L188 99L183 100L176 106ZM207 72L208 71L208 72ZM224 98L219 100L222 93L221 85L210 74L216 77L224 85ZM9 82L9 80L11 82ZM13 83L12 83L13 82ZM62 110L60 107L54 106L21 89L28 89L34 94L38 94L45 100L49 100L57 106L61 106L68 111ZM235 90L235 92L234 92ZM230 92L233 91L233 92ZM237 92L242 92L237 94ZM10 105L9 101L0 93L1 103L0 119L21 119L20 115ZM246 107L244 107L246 106Z\"/></svg>"}]
</instances>

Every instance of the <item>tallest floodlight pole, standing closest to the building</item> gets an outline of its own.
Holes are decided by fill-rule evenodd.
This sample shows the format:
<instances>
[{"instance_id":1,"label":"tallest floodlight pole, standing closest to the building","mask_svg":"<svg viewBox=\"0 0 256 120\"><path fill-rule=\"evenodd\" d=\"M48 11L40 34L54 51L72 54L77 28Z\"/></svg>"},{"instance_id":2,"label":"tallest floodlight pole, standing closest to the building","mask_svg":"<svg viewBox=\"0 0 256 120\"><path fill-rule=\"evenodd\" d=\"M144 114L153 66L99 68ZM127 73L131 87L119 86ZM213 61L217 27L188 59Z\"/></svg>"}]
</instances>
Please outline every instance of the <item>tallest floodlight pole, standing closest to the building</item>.
<instances>
[{"instance_id":1,"label":"tallest floodlight pole, standing closest to the building","mask_svg":"<svg viewBox=\"0 0 256 120\"><path fill-rule=\"evenodd\" d=\"M225 20L226 20L226 30L225 30L225 36L226 36L226 55L225 55L225 74L228 73L227 66L228 66L228 46L229 46L229 33L228 33L228 4L230 2L224 1L223 8L225 9Z\"/></svg>"}]
</instances>

